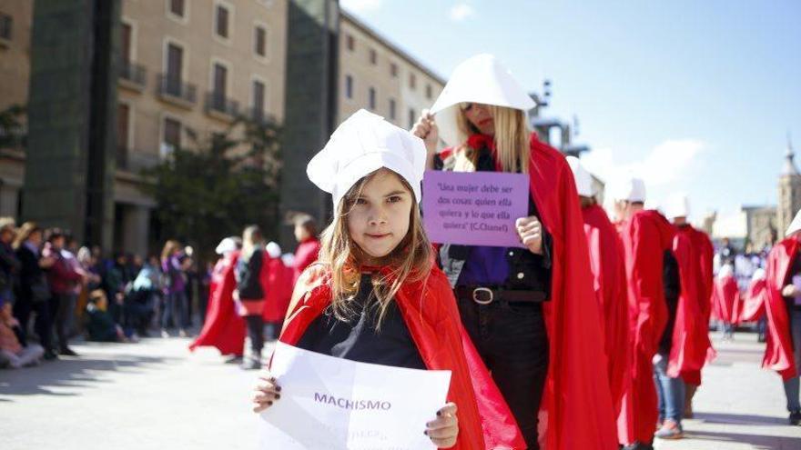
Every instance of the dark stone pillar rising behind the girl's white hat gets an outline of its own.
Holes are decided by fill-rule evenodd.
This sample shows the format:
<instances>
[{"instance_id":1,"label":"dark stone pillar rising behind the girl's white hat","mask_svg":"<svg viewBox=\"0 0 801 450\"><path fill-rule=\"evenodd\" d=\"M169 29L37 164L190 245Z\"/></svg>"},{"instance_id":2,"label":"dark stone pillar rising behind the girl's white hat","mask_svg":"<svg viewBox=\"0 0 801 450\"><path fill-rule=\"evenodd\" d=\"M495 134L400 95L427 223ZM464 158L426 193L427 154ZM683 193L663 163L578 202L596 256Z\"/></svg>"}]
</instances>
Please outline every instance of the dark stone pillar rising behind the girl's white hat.
<instances>
[{"instance_id":1,"label":"dark stone pillar rising behind the girl's white hat","mask_svg":"<svg viewBox=\"0 0 801 450\"><path fill-rule=\"evenodd\" d=\"M309 182L306 165L335 125L339 14L336 0L289 0L280 216L308 213L320 227L330 220L331 197ZM295 247L291 226L280 227L280 244Z\"/></svg>"}]
</instances>

